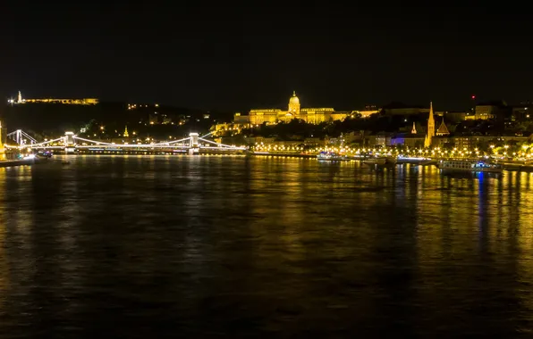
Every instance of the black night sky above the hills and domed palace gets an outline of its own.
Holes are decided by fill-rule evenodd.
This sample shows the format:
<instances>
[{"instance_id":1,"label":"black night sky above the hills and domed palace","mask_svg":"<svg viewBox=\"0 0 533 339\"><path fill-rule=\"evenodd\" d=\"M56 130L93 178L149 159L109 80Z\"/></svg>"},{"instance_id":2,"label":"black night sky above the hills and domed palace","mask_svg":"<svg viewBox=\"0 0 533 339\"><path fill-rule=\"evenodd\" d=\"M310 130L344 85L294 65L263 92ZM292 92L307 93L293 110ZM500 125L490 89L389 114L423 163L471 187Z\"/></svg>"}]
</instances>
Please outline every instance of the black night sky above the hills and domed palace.
<instances>
[{"instance_id":1,"label":"black night sky above the hills and domed palace","mask_svg":"<svg viewBox=\"0 0 533 339\"><path fill-rule=\"evenodd\" d=\"M533 99L529 7L39 3L0 4L2 96L223 110L284 107L292 90L338 110Z\"/></svg>"}]
</instances>

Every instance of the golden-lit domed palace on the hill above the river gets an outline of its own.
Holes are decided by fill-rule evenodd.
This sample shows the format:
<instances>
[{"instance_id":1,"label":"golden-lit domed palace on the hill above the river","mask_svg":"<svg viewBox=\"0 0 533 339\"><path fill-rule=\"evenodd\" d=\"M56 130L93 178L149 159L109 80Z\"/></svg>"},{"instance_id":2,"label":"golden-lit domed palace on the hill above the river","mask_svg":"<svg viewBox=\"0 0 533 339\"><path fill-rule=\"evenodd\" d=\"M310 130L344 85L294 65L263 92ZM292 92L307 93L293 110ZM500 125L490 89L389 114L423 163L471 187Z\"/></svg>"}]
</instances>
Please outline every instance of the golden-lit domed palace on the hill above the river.
<instances>
[{"instance_id":1,"label":"golden-lit domed palace on the hill above the river","mask_svg":"<svg viewBox=\"0 0 533 339\"><path fill-rule=\"evenodd\" d=\"M261 125L289 122L293 119L318 124L324 121L344 120L350 112L335 112L333 108L301 108L300 99L293 92L289 99L287 111L279 109L254 109L248 115L235 113L233 123L241 125Z\"/></svg>"}]
</instances>

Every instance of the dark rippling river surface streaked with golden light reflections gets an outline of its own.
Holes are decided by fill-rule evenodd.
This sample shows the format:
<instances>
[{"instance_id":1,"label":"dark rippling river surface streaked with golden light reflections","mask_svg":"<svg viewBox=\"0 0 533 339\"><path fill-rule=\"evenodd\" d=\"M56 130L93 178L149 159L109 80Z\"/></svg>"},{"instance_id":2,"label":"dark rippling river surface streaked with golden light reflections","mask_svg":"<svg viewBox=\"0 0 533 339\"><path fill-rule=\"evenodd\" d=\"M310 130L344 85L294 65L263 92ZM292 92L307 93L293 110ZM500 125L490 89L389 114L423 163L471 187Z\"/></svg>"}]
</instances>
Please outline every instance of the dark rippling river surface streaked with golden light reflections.
<instances>
[{"instance_id":1,"label":"dark rippling river surface streaked with golden light reflections","mask_svg":"<svg viewBox=\"0 0 533 339\"><path fill-rule=\"evenodd\" d=\"M533 174L231 156L0 169L0 337L533 335Z\"/></svg>"}]
</instances>

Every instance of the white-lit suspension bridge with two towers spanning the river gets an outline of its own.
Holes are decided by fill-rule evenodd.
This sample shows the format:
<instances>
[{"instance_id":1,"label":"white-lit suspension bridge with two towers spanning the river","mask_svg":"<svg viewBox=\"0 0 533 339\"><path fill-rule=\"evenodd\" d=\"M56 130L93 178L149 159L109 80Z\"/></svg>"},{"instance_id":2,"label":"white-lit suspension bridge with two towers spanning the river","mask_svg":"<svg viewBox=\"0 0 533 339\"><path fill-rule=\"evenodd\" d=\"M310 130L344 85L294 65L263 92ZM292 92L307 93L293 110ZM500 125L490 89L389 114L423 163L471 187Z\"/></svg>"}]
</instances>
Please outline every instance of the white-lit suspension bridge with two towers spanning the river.
<instances>
[{"instance_id":1,"label":"white-lit suspension bridge with two towers spanning the river","mask_svg":"<svg viewBox=\"0 0 533 339\"><path fill-rule=\"evenodd\" d=\"M64 153L166 152L196 154L200 152L234 153L245 151L247 149L246 147L216 143L215 141L206 139L206 136L208 136L208 134L205 136L199 136L198 133L190 133L189 137L169 142L150 144L115 144L85 139L83 137L76 136L73 132L65 132L64 136L38 143L33 137L19 129L8 134L8 137L15 141L17 145L6 145L6 147L28 151L57 150L64 151Z\"/></svg>"}]
</instances>

